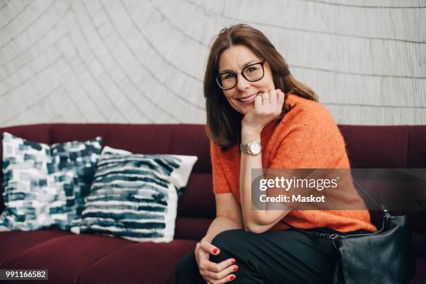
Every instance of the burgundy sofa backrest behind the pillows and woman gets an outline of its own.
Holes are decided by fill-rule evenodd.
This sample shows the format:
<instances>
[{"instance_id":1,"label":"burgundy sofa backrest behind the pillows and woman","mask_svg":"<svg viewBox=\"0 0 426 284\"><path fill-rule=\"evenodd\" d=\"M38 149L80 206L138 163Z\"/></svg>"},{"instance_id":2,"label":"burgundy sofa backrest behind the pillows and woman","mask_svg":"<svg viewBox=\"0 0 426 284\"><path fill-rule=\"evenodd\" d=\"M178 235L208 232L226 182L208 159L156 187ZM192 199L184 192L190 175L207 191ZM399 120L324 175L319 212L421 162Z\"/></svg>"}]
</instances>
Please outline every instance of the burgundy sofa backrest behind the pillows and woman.
<instances>
[{"instance_id":1,"label":"burgundy sofa backrest behind the pillows and woman","mask_svg":"<svg viewBox=\"0 0 426 284\"><path fill-rule=\"evenodd\" d=\"M339 127L353 168L426 168L426 126ZM196 155L198 161L178 205L176 237L199 239L199 232L205 232L214 218L210 142L204 125L47 124L0 128L0 132L42 143L102 136L104 145L135 153ZM426 232L426 213L408 214L411 228Z\"/></svg>"}]
</instances>

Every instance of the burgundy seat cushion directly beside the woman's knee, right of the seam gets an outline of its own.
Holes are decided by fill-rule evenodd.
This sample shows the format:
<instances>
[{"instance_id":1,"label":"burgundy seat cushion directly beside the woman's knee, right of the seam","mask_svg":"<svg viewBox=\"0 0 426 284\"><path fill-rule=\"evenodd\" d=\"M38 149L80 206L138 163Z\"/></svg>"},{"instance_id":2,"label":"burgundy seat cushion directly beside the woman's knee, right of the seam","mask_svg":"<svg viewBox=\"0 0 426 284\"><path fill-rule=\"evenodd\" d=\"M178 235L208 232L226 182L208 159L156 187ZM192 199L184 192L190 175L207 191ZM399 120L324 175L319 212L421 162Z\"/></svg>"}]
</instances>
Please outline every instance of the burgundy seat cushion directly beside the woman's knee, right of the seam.
<instances>
[{"instance_id":1,"label":"burgundy seat cushion directly beside the woman's knee, right of the seam","mask_svg":"<svg viewBox=\"0 0 426 284\"><path fill-rule=\"evenodd\" d=\"M173 283L176 263L193 250L195 241L142 242L105 255L84 269L79 284Z\"/></svg>"}]
</instances>

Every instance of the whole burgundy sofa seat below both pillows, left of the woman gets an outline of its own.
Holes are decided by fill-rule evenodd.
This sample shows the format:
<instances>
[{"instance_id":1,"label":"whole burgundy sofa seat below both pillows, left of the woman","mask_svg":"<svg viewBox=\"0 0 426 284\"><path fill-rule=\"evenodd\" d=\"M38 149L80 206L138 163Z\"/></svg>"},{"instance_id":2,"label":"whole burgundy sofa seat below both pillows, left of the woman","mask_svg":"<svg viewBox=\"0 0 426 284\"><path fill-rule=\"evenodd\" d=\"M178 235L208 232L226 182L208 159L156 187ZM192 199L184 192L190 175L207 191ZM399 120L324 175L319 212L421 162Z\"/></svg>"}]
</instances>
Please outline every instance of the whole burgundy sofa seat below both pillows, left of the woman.
<instances>
[{"instance_id":1,"label":"whole burgundy sofa seat below both pillows, left of the woman","mask_svg":"<svg viewBox=\"0 0 426 284\"><path fill-rule=\"evenodd\" d=\"M51 283L173 283L176 263L195 246L62 230L0 232L0 269L49 269Z\"/></svg>"}]
</instances>

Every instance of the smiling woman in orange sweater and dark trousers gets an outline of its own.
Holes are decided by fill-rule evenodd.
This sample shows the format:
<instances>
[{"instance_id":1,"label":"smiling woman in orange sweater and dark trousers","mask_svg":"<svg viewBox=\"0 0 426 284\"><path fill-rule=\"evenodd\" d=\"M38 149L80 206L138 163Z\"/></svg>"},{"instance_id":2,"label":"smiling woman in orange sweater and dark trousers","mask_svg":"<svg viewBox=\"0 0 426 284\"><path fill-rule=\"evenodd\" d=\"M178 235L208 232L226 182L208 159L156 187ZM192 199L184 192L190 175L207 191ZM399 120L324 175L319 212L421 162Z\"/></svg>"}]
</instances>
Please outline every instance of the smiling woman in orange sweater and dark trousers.
<instances>
[{"instance_id":1,"label":"smiling woman in orange sweater and dark trousers","mask_svg":"<svg viewBox=\"0 0 426 284\"><path fill-rule=\"evenodd\" d=\"M216 219L176 267L177 283L329 283L329 239L288 227L374 231L366 210L252 210L252 168L349 168L345 143L317 95L290 74L260 31L222 29L204 80Z\"/></svg>"}]
</instances>

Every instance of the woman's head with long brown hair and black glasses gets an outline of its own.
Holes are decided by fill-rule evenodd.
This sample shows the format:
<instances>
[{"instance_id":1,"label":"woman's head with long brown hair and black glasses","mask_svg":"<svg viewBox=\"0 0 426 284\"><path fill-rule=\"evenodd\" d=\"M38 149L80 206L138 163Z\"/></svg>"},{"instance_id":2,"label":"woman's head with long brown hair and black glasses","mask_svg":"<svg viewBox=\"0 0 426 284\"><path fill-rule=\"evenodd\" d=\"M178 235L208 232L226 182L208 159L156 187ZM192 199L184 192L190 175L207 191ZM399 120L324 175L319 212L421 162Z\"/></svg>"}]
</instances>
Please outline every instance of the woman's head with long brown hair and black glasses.
<instances>
[{"instance_id":1,"label":"woman's head with long brown hair and black glasses","mask_svg":"<svg viewBox=\"0 0 426 284\"><path fill-rule=\"evenodd\" d=\"M250 74L253 67L256 76ZM205 70L207 135L222 150L235 145L245 111L254 106L251 96L275 89L318 101L313 90L290 74L283 56L261 31L245 24L223 29L210 49ZM286 111L283 107L276 119L283 118Z\"/></svg>"}]
</instances>

